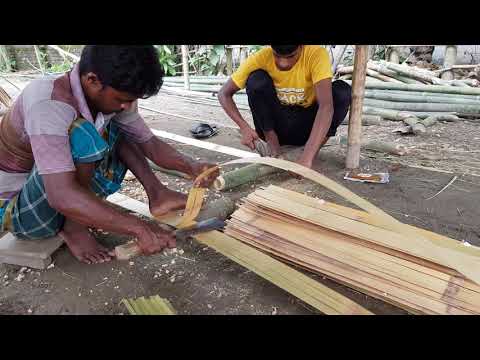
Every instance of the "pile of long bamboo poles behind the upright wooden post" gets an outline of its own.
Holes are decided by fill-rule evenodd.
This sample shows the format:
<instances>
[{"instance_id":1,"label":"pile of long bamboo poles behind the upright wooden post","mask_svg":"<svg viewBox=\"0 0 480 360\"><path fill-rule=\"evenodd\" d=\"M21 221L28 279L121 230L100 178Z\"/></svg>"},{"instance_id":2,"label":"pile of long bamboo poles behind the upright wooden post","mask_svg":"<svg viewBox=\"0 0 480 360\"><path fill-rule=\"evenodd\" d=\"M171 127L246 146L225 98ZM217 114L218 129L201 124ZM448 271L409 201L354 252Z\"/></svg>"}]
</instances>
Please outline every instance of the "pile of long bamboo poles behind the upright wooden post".
<instances>
[{"instance_id":1,"label":"pile of long bamboo poles behind the upright wooden post","mask_svg":"<svg viewBox=\"0 0 480 360\"><path fill-rule=\"evenodd\" d=\"M352 66L337 70L350 82ZM480 88L476 79L443 80L441 72L369 61L363 114L403 121L414 134L438 121L480 118Z\"/></svg>"}]
</instances>

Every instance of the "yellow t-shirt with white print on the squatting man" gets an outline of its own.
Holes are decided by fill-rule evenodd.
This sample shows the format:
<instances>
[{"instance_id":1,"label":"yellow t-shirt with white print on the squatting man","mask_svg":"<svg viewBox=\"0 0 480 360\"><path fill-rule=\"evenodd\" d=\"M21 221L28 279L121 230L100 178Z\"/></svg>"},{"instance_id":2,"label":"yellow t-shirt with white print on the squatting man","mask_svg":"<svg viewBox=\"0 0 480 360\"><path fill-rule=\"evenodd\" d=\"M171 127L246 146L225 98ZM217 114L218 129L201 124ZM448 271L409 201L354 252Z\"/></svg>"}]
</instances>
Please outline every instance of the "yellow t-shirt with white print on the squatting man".
<instances>
[{"instance_id":1,"label":"yellow t-shirt with white print on the squatting man","mask_svg":"<svg viewBox=\"0 0 480 360\"><path fill-rule=\"evenodd\" d=\"M319 45L304 45L297 63L288 71L277 68L272 48L265 47L249 56L232 74L232 80L243 89L250 73L259 69L270 75L284 105L311 106L316 101L314 84L333 77L328 52Z\"/></svg>"}]
</instances>

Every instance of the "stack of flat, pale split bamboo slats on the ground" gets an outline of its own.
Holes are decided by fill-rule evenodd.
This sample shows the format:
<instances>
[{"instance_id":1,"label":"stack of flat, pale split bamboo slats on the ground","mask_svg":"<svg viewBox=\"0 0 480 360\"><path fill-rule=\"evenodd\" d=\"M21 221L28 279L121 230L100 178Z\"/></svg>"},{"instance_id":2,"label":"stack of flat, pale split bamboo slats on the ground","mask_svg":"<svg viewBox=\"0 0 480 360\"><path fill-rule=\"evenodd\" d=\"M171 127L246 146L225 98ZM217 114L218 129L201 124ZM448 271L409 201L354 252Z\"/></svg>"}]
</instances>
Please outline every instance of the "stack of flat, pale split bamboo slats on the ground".
<instances>
[{"instance_id":1,"label":"stack of flat, pale split bamboo slats on the ground","mask_svg":"<svg viewBox=\"0 0 480 360\"><path fill-rule=\"evenodd\" d=\"M371 213L271 185L244 199L226 234L413 314L480 314L480 286L463 275L480 264L480 248L403 226L409 236Z\"/></svg>"}]
</instances>

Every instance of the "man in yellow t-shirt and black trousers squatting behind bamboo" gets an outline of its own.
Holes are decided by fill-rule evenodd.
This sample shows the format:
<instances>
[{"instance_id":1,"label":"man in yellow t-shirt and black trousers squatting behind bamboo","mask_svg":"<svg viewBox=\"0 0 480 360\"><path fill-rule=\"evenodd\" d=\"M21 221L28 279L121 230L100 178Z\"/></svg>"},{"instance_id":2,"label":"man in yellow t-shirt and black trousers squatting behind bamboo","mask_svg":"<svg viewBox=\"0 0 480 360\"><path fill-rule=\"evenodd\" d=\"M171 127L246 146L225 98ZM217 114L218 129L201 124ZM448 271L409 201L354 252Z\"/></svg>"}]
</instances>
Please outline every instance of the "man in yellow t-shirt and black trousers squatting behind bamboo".
<instances>
[{"instance_id":1,"label":"man in yellow t-shirt and black trousers squatting behind bamboo","mask_svg":"<svg viewBox=\"0 0 480 360\"><path fill-rule=\"evenodd\" d=\"M267 141L273 156L281 145L305 145L297 162L312 167L320 148L345 118L351 87L332 83L330 58L318 45L270 45L249 56L225 83L218 99L237 123L242 144ZM238 111L233 95L246 88L255 130Z\"/></svg>"}]
</instances>

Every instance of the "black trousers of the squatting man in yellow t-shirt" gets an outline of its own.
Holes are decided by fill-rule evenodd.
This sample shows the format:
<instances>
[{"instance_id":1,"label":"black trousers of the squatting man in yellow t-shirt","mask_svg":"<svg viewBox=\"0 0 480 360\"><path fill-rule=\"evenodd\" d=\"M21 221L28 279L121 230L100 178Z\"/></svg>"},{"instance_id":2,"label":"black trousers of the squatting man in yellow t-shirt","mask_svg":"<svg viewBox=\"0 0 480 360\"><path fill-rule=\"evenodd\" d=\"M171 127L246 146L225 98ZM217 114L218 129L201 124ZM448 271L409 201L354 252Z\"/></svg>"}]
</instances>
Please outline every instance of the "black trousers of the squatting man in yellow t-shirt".
<instances>
[{"instance_id":1,"label":"black trousers of the squatting man in yellow t-shirt","mask_svg":"<svg viewBox=\"0 0 480 360\"><path fill-rule=\"evenodd\" d=\"M264 70L256 70L250 74L246 91L255 130L262 139L265 140L265 131L275 130L280 145L305 145L315 122L317 103L308 108L281 104L273 80ZM334 81L332 96L334 111L328 137L335 136L337 127L347 115L352 88L344 81Z\"/></svg>"}]
</instances>

